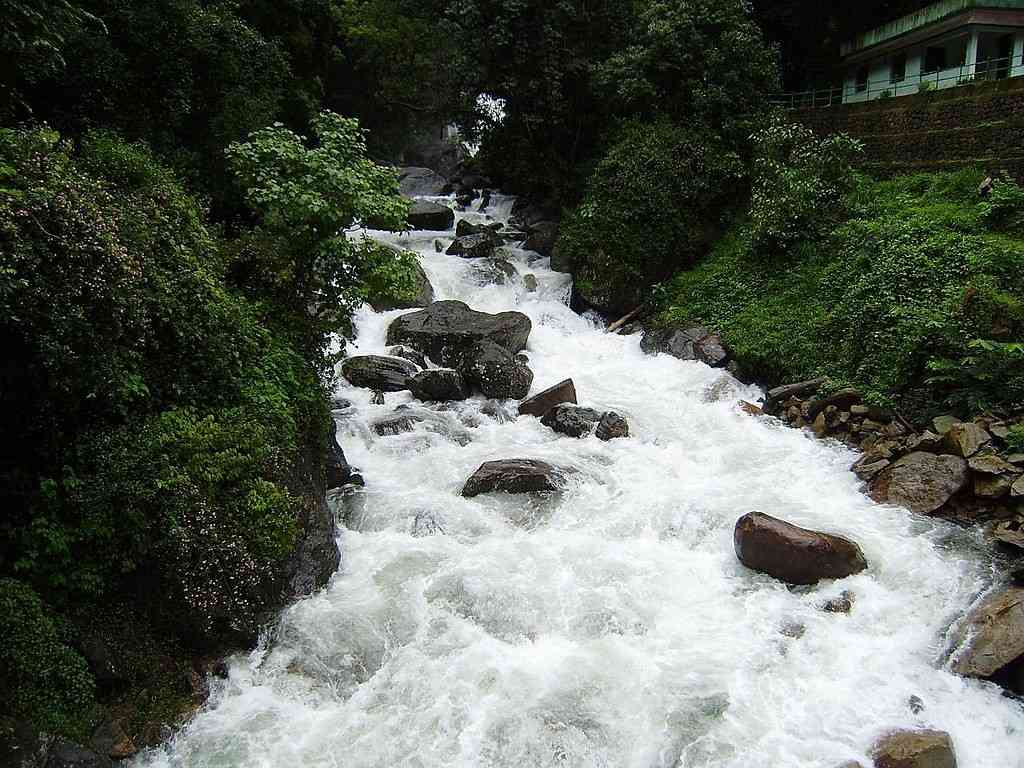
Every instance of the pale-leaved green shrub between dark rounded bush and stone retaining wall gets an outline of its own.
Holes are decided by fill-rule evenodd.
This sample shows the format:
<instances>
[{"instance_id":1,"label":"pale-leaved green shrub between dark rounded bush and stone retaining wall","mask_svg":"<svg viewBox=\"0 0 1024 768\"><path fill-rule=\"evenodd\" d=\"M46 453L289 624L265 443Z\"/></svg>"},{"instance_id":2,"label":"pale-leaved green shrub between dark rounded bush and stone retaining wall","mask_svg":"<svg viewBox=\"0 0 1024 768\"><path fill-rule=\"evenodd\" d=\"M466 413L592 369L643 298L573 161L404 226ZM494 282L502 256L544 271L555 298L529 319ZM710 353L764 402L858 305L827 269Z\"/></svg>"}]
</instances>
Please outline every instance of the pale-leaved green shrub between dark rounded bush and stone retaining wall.
<instances>
[{"instance_id":1,"label":"pale-leaved green shrub between dark rounded bush and stone retaining wall","mask_svg":"<svg viewBox=\"0 0 1024 768\"><path fill-rule=\"evenodd\" d=\"M751 237L777 253L828 231L853 186L863 145L845 133L817 138L801 125L774 123L753 136Z\"/></svg>"}]
</instances>

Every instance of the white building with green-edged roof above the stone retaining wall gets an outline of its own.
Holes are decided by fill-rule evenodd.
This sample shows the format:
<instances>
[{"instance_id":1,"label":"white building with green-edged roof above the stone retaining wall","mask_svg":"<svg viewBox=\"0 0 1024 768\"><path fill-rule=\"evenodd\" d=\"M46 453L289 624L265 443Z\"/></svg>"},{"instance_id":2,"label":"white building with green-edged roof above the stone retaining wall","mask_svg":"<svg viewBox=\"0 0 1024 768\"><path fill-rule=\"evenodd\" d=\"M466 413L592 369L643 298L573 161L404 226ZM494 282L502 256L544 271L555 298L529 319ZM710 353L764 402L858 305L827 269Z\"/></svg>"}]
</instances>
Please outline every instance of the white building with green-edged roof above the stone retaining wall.
<instances>
[{"instance_id":1,"label":"white building with green-edged roof above the stone retaining wall","mask_svg":"<svg viewBox=\"0 0 1024 768\"><path fill-rule=\"evenodd\" d=\"M864 33L842 54L844 103L1020 77L1024 0L943 0Z\"/></svg>"}]
</instances>

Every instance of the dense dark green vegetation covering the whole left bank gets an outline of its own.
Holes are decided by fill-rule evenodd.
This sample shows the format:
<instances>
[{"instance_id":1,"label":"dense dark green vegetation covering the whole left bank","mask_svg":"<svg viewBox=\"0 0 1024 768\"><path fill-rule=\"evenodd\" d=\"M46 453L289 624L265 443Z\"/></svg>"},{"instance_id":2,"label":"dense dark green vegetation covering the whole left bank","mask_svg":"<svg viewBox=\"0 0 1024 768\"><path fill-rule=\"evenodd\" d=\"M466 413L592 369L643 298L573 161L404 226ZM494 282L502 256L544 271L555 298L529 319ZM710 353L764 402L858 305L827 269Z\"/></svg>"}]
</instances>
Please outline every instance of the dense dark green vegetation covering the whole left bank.
<instances>
[{"instance_id":1,"label":"dense dark green vegetation covering the whole left bank","mask_svg":"<svg viewBox=\"0 0 1024 768\"><path fill-rule=\"evenodd\" d=\"M319 42L296 29L313 6L336 23ZM0 83L0 692L5 714L80 739L97 705L127 707L138 735L195 695L195 655L251 642L287 594L323 503L328 335L415 275L345 237L400 227L407 204L309 69L311 48L371 36L371 8L0 9L16 65Z\"/></svg>"}]
</instances>

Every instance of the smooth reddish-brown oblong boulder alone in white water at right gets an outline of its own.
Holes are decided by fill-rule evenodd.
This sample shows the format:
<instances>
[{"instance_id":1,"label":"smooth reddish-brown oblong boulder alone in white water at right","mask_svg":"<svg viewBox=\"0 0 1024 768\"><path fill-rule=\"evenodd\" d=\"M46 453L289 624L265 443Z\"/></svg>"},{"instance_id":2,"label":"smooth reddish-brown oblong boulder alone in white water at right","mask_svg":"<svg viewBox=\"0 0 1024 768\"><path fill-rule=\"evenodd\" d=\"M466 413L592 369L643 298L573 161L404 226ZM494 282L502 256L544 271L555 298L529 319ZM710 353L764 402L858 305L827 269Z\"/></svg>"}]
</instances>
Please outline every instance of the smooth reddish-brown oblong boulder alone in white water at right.
<instances>
[{"instance_id":1,"label":"smooth reddish-brown oblong boulder alone in white water at right","mask_svg":"<svg viewBox=\"0 0 1024 768\"><path fill-rule=\"evenodd\" d=\"M849 539L802 528L761 512L740 517L732 541L743 565L788 584L844 579L867 567L860 547Z\"/></svg>"}]
</instances>

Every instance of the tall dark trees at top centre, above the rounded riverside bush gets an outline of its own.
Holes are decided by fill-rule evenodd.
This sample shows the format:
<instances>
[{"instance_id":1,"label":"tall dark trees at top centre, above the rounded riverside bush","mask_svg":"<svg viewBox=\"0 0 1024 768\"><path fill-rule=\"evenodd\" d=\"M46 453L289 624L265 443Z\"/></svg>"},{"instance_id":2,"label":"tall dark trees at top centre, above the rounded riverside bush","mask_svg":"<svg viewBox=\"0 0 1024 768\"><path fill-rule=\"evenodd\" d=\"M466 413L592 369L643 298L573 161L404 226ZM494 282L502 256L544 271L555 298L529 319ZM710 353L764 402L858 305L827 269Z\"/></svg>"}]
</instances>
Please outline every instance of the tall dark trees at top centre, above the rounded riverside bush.
<instances>
[{"instance_id":1,"label":"tall dark trees at top centre, above the rounded riverside bush","mask_svg":"<svg viewBox=\"0 0 1024 768\"><path fill-rule=\"evenodd\" d=\"M500 99L478 109L484 170L512 191L575 203L617 120L658 115L729 140L764 110L774 54L740 0L484 0L449 3L464 93Z\"/></svg>"}]
</instances>

